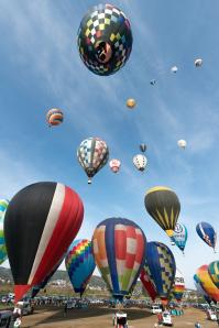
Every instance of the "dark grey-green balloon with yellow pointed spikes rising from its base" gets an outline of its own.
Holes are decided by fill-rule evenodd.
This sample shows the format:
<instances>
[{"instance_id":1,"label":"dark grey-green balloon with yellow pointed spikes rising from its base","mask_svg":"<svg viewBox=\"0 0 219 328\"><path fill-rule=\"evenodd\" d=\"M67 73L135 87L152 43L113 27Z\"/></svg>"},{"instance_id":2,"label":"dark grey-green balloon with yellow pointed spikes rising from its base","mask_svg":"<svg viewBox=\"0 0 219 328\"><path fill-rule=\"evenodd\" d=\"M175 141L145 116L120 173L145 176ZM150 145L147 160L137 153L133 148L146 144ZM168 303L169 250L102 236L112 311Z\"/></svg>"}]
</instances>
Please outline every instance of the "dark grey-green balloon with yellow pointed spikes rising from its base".
<instances>
[{"instance_id":1,"label":"dark grey-green balloon with yellow pointed spikes rising from its base","mask_svg":"<svg viewBox=\"0 0 219 328\"><path fill-rule=\"evenodd\" d=\"M177 195L167 187L153 187L147 190L144 205L150 216L172 237L180 211Z\"/></svg>"}]
</instances>

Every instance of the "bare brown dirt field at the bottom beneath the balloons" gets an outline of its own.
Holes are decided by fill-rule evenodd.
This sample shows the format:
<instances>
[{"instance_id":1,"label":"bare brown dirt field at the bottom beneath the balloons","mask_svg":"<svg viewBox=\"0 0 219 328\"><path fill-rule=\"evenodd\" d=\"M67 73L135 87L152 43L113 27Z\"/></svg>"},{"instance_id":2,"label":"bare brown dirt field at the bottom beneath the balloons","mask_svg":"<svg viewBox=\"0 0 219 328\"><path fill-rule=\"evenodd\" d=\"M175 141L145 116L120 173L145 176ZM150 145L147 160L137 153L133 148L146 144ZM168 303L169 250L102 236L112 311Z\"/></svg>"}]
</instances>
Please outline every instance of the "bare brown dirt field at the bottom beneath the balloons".
<instances>
[{"instance_id":1,"label":"bare brown dirt field at the bottom beneath the balloons","mask_svg":"<svg viewBox=\"0 0 219 328\"><path fill-rule=\"evenodd\" d=\"M129 328L153 328L156 322L156 315L151 315L145 309L127 309ZM28 327L53 327L53 328L112 328L113 309L88 308L68 309L67 317L64 317L63 308L45 307L36 308L31 316L22 319L22 328ZM187 309L180 317L174 317L174 327L194 327L198 320L202 328L218 327L217 322L206 319L204 311Z\"/></svg>"}]
</instances>

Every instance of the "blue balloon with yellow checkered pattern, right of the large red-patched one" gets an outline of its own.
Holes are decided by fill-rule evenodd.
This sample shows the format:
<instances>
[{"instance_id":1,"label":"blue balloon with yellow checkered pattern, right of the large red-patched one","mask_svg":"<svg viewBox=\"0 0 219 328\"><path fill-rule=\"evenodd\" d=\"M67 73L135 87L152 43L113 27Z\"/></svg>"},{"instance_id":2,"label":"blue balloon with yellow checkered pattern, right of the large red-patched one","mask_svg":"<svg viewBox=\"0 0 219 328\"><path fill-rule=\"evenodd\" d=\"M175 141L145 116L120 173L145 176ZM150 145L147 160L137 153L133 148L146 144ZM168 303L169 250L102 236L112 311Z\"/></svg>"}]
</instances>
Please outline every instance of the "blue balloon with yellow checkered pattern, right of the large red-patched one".
<instances>
[{"instance_id":1,"label":"blue balloon with yellow checkered pattern, right of the large red-patched one","mask_svg":"<svg viewBox=\"0 0 219 328\"><path fill-rule=\"evenodd\" d=\"M155 284L162 303L166 304L176 273L176 263L172 251L162 242L147 242L145 265L150 270L150 277Z\"/></svg>"}]
</instances>

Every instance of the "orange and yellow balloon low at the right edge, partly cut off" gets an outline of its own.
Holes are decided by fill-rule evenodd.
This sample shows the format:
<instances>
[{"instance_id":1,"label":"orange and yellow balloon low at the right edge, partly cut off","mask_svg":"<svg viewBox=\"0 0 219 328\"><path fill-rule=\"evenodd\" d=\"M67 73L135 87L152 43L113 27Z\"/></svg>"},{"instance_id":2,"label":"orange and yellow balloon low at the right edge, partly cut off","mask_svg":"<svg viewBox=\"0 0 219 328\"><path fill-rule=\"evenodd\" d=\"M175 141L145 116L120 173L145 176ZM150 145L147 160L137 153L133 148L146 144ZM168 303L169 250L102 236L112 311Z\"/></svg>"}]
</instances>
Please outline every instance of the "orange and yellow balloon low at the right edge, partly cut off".
<instances>
[{"instance_id":1,"label":"orange and yellow balloon low at the right edge, partly cut off","mask_svg":"<svg viewBox=\"0 0 219 328\"><path fill-rule=\"evenodd\" d=\"M219 289L216 287L208 273L208 265L201 265L196 272L201 286L210 298L219 302Z\"/></svg>"}]
</instances>

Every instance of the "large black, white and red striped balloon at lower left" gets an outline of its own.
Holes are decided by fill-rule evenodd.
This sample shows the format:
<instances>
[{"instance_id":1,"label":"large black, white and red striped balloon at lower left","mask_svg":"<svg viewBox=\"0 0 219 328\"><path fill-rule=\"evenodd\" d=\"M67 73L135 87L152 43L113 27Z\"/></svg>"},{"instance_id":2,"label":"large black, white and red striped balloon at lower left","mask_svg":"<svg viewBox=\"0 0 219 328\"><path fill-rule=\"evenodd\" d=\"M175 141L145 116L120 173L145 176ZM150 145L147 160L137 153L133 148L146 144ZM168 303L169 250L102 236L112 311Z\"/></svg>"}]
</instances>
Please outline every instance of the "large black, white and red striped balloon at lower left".
<instances>
[{"instance_id":1,"label":"large black, white and red striped balloon at lower left","mask_svg":"<svg viewBox=\"0 0 219 328\"><path fill-rule=\"evenodd\" d=\"M12 198L4 218L4 238L15 302L52 272L77 234L83 217L79 196L58 183L36 183Z\"/></svg>"}]
</instances>

